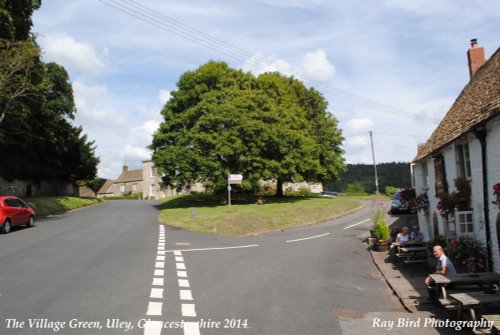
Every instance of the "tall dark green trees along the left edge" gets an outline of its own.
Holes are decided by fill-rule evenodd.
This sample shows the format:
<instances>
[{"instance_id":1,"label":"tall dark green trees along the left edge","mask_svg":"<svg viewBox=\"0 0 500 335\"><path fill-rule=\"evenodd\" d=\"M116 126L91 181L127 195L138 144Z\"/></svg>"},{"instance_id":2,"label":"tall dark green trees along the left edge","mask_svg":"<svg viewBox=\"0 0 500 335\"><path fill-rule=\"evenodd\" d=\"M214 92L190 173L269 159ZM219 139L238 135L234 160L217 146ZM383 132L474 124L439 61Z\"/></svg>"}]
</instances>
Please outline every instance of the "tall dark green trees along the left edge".
<instances>
[{"instance_id":1,"label":"tall dark green trees along the left edge","mask_svg":"<svg viewBox=\"0 0 500 335\"><path fill-rule=\"evenodd\" d=\"M0 0L0 176L93 179L95 144L74 126L76 107L67 71L44 63L31 32L41 0Z\"/></svg>"}]
</instances>

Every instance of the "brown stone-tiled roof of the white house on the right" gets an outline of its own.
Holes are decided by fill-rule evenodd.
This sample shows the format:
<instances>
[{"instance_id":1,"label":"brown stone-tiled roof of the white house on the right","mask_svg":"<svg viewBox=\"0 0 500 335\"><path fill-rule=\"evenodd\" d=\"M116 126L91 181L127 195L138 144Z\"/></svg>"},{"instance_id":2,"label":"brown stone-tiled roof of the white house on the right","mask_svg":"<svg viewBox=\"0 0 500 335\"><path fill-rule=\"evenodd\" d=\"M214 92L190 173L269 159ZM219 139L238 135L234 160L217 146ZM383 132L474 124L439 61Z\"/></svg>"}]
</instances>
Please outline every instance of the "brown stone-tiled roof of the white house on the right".
<instances>
[{"instance_id":1,"label":"brown stone-tiled roof of the white house on the right","mask_svg":"<svg viewBox=\"0 0 500 335\"><path fill-rule=\"evenodd\" d=\"M414 162L422 160L500 114L500 48L464 87Z\"/></svg>"}]
</instances>

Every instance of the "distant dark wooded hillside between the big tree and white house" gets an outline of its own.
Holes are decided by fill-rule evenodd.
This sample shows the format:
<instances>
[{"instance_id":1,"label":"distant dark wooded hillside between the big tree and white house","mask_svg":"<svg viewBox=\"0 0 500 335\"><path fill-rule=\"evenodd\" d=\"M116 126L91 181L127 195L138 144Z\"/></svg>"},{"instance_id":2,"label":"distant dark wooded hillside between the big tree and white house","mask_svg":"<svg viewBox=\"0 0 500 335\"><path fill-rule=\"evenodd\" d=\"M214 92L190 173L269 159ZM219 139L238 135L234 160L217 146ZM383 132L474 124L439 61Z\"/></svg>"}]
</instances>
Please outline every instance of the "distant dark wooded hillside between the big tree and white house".
<instances>
[{"instance_id":1,"label":"distant dark wooded hillside between the big tree and white house","mask_svg":"<svg viewBox=\"0 0 500 335\"><path fill-rule=\"evenodd\" d=\"M347 164L347 172L340 176L340 180L326 184L329 191L345 192L348 185L359 183L365 192L375 193L375 173L370 164ZM379 190L384 192L386 186L400 188L411 187L410 163L381 163L377 164Z\"/></svg>"}]
</instances>

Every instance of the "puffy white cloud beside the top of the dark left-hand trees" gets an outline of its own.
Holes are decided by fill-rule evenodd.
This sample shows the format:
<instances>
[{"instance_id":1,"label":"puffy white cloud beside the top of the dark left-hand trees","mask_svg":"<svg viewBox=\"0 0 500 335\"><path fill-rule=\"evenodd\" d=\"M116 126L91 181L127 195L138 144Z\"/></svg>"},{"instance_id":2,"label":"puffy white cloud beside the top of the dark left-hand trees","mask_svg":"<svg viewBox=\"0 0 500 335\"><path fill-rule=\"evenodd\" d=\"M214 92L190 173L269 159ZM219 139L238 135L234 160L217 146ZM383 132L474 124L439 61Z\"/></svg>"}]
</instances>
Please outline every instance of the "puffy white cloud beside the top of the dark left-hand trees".
<instances>
[{"instance_id":1,"label":"puffy white cloud beside the top of the dark left-hand trees","mask_svg":"<svg viewBox=\"0 0 500 335\"><path fill-rule=\"evenodd\" d=\"M92 44L77 42L66 33L42 36L40 42L44 58L74 68L85 76L97 76L106 69L105 60L109 55L106 48L98 52Z\"/></svg>"}]
</instances>

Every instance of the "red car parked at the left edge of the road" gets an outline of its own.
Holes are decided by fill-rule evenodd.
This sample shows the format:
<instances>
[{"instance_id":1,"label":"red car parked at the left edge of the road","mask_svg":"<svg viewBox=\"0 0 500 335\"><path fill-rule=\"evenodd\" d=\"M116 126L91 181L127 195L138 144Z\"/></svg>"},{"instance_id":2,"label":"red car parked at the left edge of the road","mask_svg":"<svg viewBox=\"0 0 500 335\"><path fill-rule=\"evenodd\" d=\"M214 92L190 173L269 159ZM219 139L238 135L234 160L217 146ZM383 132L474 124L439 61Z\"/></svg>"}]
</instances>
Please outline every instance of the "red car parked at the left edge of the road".
<instances>
[{"instance_id":1,"label":"red car parked at the left edge of the road","mask_svg":"<svg viewBox=\"0 0 500 335\"><path fill-rule=\"evenodd\" d=\"M35 225L35 211L27 203L14 196L0 197L0 232L10 233L12 227Z\"/></svg>"}]
</instances>

